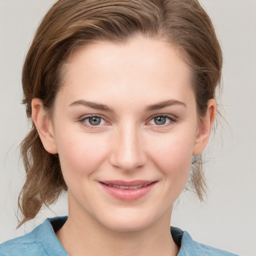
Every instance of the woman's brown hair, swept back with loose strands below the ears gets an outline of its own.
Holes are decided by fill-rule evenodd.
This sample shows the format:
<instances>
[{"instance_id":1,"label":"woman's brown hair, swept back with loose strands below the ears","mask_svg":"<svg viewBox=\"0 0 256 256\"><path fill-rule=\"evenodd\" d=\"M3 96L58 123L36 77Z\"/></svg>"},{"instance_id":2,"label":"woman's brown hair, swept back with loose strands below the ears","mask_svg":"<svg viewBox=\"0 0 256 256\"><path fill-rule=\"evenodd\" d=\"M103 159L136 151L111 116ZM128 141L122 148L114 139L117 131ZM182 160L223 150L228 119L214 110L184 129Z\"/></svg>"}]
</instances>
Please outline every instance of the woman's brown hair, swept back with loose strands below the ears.
<instances>
[{"instance_id":1,"label":"woman's brown hair, swept back with loose strands below the ears","mask_svg":"<svg viewBox=\"0 0 256 256\"><path fill-rule=\"evenodd\" d=\"M32 98L40 98L51 113L61 67L71 51L98 40L125 42L136 34L164 39L180 50L202 118L220 82L222 55L210 18L197 0L58 0L39 24L23 65L27 116ZM21 155L26 181L18 199L19 226L67 190L58 156L44 149L34 124L21 143ZM200 155L193 158L189 185L202 200L206 184Z\"/></svg>"}]
</instances>

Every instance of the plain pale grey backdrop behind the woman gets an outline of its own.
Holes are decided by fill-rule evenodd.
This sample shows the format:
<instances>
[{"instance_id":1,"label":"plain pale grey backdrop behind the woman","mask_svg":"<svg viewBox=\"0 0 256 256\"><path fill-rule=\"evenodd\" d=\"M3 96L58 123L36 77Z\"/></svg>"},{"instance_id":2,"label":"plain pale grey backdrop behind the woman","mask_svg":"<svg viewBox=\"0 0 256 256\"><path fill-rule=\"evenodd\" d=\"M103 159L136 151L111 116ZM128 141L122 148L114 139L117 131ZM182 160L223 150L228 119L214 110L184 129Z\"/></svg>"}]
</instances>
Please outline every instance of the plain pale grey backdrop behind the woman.
<instances>
[{"instance_id":1,"label":"plain pale grey backdrop behind the woman","mask_svg":"<svg viewBox=\"0 0 256 256\"><path fill-rule=\"evenodd\" d=\"M21 68L33 33L54 0L0 0L0 242L46 217L67 214L63 194L52 210L15 229L24 182L18 144L27 132ZM224 54L221 119L205 164L207 200L182 193L171 224L193 239L244 256L256 255L256 1L200 0ZM222 134L222 138L219 134Z\"/></svg>"}]
</instances>

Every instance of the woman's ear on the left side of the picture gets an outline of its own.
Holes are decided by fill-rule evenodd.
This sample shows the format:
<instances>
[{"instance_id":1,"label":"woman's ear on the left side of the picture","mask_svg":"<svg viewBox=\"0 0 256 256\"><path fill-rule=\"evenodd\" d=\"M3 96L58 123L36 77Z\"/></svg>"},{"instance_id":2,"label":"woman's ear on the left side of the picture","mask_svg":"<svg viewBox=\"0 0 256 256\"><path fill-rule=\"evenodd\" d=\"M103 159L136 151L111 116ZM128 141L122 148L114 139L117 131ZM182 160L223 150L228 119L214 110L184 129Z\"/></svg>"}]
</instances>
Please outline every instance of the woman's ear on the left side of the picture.
<instances>
[{"instance_id":1,"label":"woman's ear on the left side of the picture","mask_svg":"<svg viewBox=\"0 0 256 256\"><path fill-rule=\"evenodd\" d=\"M52 121L43 111L43 103L39 98L33 98L31 102L32 120L42 141L43 147L49 153L57 153L57 147L53 134Z\"/></svg>"}]
</instances>

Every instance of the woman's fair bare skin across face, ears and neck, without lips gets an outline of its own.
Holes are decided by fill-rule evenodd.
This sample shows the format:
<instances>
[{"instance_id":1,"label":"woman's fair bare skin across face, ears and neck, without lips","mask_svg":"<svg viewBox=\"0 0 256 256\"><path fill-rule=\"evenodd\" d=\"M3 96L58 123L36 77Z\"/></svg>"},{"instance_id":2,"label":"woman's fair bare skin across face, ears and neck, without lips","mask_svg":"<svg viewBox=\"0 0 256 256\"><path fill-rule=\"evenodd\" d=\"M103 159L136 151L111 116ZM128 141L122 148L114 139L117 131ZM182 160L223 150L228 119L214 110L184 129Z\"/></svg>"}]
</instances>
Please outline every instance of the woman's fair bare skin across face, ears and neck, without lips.
<instances>
[{"instance_id":1,"label":"woman's fair bare skin across face, ears and neck, without lips","mask_svg":"<svg viewBox=\"0 0 256 256\"><path fill-rule=\"evenodd\" d=\"M207 144L214 99L199 120L189 68L161 40L95 42L63 68L53 115L32 100L32 119L45 149L58 153L68 187L68 219L56 233L63 247L69 255L177 255L169 231L172 205L192 155ZM158 109L148 109L152 104ZM99 125L89 123L91 114L102 117ZM160 114L168 115L164 124L155 122ZM125 201L99 184L113 179L156 182L144 196Z\"/></svg>"}]
</instances>

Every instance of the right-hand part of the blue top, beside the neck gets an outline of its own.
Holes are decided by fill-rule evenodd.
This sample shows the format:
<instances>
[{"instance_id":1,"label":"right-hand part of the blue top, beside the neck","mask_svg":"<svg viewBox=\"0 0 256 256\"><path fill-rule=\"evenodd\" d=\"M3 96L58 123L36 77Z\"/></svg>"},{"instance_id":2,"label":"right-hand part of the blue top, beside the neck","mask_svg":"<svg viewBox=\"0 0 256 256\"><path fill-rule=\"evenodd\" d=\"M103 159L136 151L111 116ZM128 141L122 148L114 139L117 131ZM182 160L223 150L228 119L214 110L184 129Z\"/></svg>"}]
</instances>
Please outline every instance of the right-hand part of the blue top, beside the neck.
<instances>
[{"instance_id":1,"label":"right-hand part of the blue top, beside the neck","mask_svg":"<svg viewBox=\"0 0 256 256\"><path fill-rule=\"evenodd\" d=\"M186 231L182 231L177 227L171 227L171 235L173 240L179 245L179 253L177 256L238 256L221 249L217 249L199 242L194 241Z\"/></svg>"}]
</instances>

